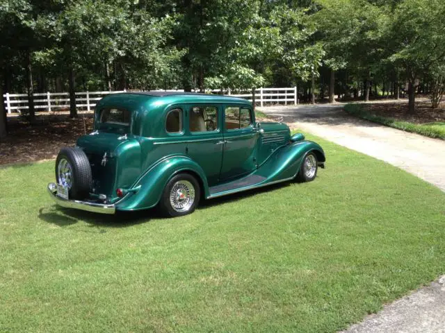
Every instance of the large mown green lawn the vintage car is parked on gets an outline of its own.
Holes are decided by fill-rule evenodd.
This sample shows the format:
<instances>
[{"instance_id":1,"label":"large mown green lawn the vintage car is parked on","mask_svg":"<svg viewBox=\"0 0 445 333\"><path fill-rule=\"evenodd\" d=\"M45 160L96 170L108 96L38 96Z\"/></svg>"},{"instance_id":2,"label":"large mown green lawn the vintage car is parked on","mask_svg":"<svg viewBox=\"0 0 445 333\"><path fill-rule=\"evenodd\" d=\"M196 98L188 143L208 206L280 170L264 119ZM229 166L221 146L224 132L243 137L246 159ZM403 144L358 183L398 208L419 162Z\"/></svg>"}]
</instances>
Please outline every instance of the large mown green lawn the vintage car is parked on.
<instances>
[{"instance_id":1,"label":"large mown green lawn the vintage car is parked on","mask_svg":"<svg viewBox=\"0 0 445 333\"><path fill-rule=\"evenodd\" d=\"M445 194L316 141L314 182L177 219L62 210L54 162L0 169L0 332L335 332L444 273Z\"/></svg>"}]
</instances>

